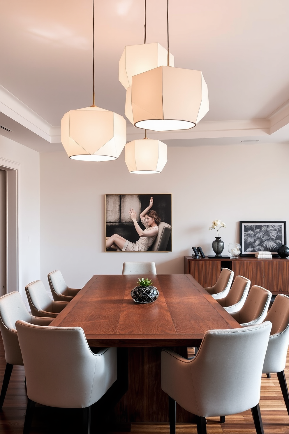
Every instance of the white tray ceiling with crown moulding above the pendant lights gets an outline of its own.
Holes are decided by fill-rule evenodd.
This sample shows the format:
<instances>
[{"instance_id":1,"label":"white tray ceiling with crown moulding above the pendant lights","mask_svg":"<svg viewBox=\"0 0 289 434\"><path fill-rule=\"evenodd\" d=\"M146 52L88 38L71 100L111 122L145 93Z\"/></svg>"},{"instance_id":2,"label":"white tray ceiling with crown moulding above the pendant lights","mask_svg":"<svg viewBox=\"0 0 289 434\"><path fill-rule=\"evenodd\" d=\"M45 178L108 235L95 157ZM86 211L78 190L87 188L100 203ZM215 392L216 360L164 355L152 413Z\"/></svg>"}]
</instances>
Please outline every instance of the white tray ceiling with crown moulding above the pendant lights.
<instances>
[{"instance_id":1,"label":"white tray ceiling with crown moulding above the pendant lights","mask_svg":"<svg viewBox=\"0 0 289 434\"><path fill-rule=\"evenodd\" d=\"M144 0L94 0L96 104L124 115L118 61L143 43ZM146 42L166 47L166 0L146 1ZM92 104L92 0L0 0L0 134L62 150L65 112ZM169 146L289 143L289 1L169 0L175 67L199 69L210 111ZM127 140L143 130L127 120ZM244 142L245 141L245 142Z\"/></svg>"}]
</instances>

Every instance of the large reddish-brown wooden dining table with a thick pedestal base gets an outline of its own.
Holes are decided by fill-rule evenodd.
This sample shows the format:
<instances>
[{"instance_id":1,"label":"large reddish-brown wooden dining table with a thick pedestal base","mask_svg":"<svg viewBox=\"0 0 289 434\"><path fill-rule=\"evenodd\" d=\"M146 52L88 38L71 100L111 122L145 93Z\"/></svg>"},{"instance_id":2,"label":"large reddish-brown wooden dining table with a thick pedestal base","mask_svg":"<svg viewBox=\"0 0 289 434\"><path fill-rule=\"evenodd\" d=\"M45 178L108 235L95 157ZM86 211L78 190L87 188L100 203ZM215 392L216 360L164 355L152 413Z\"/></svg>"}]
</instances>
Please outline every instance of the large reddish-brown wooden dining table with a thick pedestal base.
<instances>
[{"instance_id":1,"label":"large reddish-brown wooden dining table with a thick pedestal base","mask_svg":"<svg viewBox=\"0 0 289 434\"><path fill-rule=\"evenodd\" d=\"M187 357L187 348L198 347L206 330L240 325L191 275L144 276L153 280L159 296L152 303L136 303L130 293L138 277L93 276L51 325L82 327L94 351L117 347L117 381L99 403L102 418L127 424L167 422L162 348ZM194 420L179 407L177 421Z\"/></svg>"}]
</instances>

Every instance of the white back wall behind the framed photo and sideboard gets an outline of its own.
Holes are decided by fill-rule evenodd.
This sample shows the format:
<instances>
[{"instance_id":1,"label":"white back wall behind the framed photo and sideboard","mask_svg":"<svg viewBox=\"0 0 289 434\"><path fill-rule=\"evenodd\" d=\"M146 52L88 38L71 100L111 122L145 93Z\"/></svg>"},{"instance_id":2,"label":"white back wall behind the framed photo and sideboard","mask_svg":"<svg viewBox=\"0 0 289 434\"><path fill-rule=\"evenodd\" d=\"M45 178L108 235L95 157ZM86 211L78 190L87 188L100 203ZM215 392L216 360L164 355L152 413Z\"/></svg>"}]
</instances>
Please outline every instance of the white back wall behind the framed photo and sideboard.
<instances>
[{"instance_id":1,"label":"white back wall behind the framed photo and sideboard","mask_svg":"<svg viewBox=\"0 0 289 434\"><path fill-rule=\"evenodd\" d=\"M124 152L116 161L40 155L41 278L60 269L68 286L93 274L120 274L123 261L152 260L158 273L183 273L192 246L213 254L214 219L227 224L224 254L239 241L240 220L289 220L289 145L168 148L161 174L130 174ZM105 194L172 193L172 253L105 252Z\"/></svg>"}]
</instances>

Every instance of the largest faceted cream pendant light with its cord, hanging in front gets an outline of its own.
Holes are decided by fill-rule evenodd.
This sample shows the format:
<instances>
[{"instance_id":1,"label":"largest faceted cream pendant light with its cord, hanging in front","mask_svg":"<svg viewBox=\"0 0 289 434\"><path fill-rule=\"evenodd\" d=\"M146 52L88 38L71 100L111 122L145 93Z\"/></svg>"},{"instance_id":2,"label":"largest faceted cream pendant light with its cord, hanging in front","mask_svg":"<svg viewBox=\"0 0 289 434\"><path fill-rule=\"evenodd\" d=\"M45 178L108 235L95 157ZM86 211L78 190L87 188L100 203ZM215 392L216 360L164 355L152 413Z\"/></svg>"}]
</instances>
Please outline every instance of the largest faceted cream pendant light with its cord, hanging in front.
<instances>
[{"instance_id":1,"label":"largest faceted cream pendant light with its cord, hanging in front","mask_svg":"<svg viewBox=\"0 0 289 434\"><path fill-rule=\"evenodd\" d=\"M195 125L209 111L208 87L201 71L172 68L169 63L169 0L167 0L167 66L132 77L133 125L154 131L182 130ZM127 107L129 107L127 102ZM127 113L126 113L127 115Z\"/></svg>"}]
</instances>

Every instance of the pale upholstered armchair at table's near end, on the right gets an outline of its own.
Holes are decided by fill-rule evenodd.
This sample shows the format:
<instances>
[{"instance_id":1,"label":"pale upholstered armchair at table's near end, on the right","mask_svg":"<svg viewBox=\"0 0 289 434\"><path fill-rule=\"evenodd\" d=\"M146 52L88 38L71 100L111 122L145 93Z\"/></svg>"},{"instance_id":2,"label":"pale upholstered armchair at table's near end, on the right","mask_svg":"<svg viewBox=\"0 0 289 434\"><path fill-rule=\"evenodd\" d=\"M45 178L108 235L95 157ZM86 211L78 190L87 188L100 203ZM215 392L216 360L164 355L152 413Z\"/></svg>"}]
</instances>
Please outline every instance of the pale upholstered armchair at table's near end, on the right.
<instances>
[{"instance_id":1,"label":"pale upholstered armchair at table's near end, on the right","mask_svg":"<svg viewBox=\"0 0 289 434\"><path fill-rule=\"evenodd\" d=\"M207 432L206 417L249 409L257 434L263 433L259 400L271 326L266 321L240 329L209 330L191 360L162 350L162 390L169 395L170 434L175 434L176 402L195 414L198 434Z\"/></svg>"}]
</instances>

